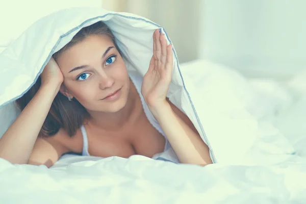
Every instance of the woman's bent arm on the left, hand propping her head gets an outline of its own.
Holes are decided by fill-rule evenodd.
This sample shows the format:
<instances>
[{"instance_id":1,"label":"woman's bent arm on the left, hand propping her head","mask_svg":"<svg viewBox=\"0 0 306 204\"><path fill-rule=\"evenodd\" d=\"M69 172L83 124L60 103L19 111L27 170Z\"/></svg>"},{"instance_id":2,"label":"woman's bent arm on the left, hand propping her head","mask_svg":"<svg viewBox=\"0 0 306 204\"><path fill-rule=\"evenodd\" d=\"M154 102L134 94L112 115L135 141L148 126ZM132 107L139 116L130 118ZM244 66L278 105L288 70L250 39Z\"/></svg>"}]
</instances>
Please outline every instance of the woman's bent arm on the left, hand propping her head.
<instances>
[{"instance_id":1,"label":"woman's bent arm on the left, hand propping her head","mask_svg":"<svg viewBox=\"0 0 306 204\"><path fill-rule=\"evenodd\" d=\"M11 163L28 163L43 122L63 82L63 75L53 59L40 77L39 90L0 139L0 158Z\"/></svg>"}]
</instances>

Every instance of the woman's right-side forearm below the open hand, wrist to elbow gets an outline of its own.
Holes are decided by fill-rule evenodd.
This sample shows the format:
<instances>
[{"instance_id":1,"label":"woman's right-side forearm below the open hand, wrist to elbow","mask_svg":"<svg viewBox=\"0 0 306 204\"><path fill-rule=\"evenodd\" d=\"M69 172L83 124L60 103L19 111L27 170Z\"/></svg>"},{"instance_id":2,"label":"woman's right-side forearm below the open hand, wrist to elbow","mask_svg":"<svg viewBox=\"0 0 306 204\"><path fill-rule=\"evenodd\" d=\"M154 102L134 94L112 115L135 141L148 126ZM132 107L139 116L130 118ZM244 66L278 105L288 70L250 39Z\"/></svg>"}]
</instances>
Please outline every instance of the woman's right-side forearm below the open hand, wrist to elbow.
<instances>
[{"instance_id":1,"label":"woman's right-side forearm below the open hand, wrist to elbow","mask_svg":"<svg viewBox=\"0 0 306 204\"><path fill-rule=\"evenodd\" d=\"M186 164L212 164L209 148L200 138L189 118L169 100L151 110L160 123L177 158Z\"/></svg>"}]
</instances>

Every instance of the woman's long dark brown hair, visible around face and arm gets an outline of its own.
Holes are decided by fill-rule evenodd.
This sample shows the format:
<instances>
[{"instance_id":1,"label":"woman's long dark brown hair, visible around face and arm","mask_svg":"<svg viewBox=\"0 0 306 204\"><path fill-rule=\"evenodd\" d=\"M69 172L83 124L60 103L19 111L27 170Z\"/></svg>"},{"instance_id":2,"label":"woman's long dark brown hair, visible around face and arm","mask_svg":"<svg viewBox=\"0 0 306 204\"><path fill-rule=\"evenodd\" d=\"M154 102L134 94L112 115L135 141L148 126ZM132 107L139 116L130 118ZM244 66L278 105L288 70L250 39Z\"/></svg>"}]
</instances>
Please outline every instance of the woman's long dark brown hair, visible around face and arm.
<instances>
[{"instance_id":1,"label":"woman's long dark brown hair, visible around face and arm","mask_svg":"<svg viewBox=\"0 0 306 204\"><path fill-rule=\"evenodd\" d=\"M65 52L66 49L72 47L73 45L83 41L89 35L107 35L113 41L115 47L117 48L119 54L121 52L115 42L115 36L109 27L102 21L98 21L88 27L82 28L72 40L61 48L58 52L54 53L53 57L55 60ZM16 100L16 105L20 110L23 110L30 102L30 100L37 93L41 85L40 78L36 83L30 88L30 90L25 93L22 97ZM55 135L61 128L63 128L70 137L75 135L75 132L81 127L84 119L89 118L89 114L86 109L79 103L75 98L69 101L66 96L61 92L56 95L47 117L41 127L39 136L47 137Z\"/></svg>"}]
</instances>

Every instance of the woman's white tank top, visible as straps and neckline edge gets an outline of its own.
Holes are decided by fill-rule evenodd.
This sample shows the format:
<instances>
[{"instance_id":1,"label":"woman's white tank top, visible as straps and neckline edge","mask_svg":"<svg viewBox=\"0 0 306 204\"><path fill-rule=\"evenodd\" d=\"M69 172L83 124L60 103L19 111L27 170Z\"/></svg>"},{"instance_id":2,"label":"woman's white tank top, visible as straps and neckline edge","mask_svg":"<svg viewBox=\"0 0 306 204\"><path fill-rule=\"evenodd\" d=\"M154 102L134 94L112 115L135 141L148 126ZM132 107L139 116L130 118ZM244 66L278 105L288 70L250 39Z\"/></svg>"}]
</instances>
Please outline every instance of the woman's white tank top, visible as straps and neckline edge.
<instances>
[{"instance_id":1,"label":"woman's white tank top, visible as straps and neckline edge","mask_svg":"<svg viewBox=\"0 0 306 204\"><path fill-rule=\"evenodd\" d=\"M131 81L135 85L136 90L137 90L137 92L140 96L142 107L143 107L143 110L144 110L144 113L145 113L146 117L148 118L151 125L154 126L155 129L158 132L160 132L160 134L162 134L166 139L166 143L165 143L165 147L164 147L164 151L165 151L170 147L170 143L168 142L168 140L165 136L165 133L163 132L159 122L156 120L156 118L150 112L150 110L149 110L148 106L146 105L146 103L144 101L144 98L141 94L141 85L142 85L143 78L137 72L130 72L129 75L130 75ZM87 138L87 133L86 133L84 125L81 126L81 132L82 132L82 135L83 135L83 152L82 152L82 155L83 156L90 156L89 152L88 152L88 138Z\"/></svg>"}]
</instances>

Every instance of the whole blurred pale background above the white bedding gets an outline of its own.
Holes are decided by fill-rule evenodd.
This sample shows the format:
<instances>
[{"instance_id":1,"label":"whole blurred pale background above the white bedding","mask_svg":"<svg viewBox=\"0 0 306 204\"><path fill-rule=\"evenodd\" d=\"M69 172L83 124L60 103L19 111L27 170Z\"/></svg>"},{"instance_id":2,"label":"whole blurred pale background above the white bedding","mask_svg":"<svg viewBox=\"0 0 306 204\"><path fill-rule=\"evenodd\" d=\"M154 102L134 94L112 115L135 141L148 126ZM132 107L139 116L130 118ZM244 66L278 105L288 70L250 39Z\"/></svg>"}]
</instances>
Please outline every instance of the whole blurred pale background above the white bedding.
<instances>
[{"instance_id":1,"label":"whole blurred pale background above the white bedding","mask_svg":"<svg viewBox=\"0 0 306 204\"><path fill-rule=\"evenodd\" d=\"M181 63L206 59L252 77L288 78L306 65L304 0L0 0L0 52L63 8L130 12L165 28Z\"/></svg>"}]
</instances>

